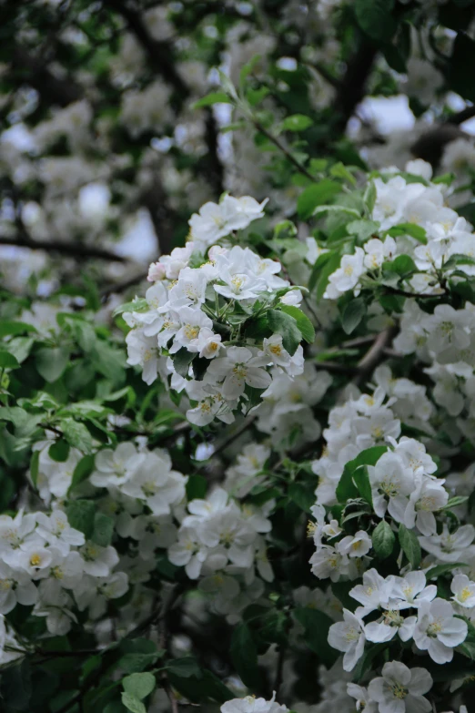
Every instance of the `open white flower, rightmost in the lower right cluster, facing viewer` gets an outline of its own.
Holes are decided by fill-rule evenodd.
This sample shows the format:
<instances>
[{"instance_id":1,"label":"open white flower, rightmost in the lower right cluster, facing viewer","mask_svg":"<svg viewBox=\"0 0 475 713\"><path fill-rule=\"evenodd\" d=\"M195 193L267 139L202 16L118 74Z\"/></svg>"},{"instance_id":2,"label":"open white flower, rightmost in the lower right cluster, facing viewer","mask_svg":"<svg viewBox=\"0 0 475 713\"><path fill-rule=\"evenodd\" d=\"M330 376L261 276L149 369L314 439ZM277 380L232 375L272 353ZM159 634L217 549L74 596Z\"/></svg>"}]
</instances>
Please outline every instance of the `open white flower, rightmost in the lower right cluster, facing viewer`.
<instances>
[{"instance_id":1,"label":"open white flower, rightmost in the lower right cluster, facing viewer","mask_svg":"<svg viewBox=\"0 0 475 713\"><path fill-rule=\"evenodd\" d=\"M451 661L453 647L465 641L467 633L467 623L454 616L452 605L445 599L434 599L419 606L414 641L418 648L427 650L436 664Z\"/></svg>"}]
</instances>

